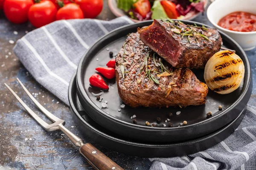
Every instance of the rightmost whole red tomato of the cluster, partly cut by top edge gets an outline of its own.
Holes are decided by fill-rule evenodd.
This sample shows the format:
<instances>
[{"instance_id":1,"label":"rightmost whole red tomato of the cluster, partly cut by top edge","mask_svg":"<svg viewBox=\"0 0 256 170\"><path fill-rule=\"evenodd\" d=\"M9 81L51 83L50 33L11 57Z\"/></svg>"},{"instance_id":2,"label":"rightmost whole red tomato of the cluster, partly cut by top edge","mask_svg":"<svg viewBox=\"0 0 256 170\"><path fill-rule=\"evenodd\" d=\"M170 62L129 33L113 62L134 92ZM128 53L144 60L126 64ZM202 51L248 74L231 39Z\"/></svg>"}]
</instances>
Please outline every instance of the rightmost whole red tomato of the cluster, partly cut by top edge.
<instances>
[{"instance_id":1,"label":"rightmost whole red tomato of the cluster, partly cut by top edge","mask_svg":"<svg viewBox=\"0 0 256 170\"><path fill-rule=\"evenodd\" d=\"M75 0L84 12L84 18L95 18L102 11L103 0Z\"/></svg>"}]
</instances>

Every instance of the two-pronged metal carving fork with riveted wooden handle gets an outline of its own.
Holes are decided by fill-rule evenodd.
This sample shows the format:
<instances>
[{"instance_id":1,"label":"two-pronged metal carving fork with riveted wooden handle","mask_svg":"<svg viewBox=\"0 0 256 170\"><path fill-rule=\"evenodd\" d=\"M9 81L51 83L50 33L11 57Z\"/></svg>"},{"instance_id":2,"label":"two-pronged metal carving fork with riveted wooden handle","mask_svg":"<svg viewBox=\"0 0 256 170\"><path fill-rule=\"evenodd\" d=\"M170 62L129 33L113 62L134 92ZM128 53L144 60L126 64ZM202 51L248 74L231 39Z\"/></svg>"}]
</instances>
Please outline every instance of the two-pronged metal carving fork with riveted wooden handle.
<instances>
[{"instance_id":1,"label":"two-pronged metal carving fork with riveted wooden handle","mask_svg":"<svg viewBox=\"0 0 256 170\"><path fill-rule=\"evenodd\" d=\"M6 83L6 87L9 89L9 91L12 92L12 94L16 97L16 99L20 102L20 104L26 109L26 111L47 131L53 131L53 130L61 130L63 133L67 135L67 137L75 144L77 147L80 147L79 151L80 153L85 157L85 159L88 161L89 164L92 165L93 168L96 170L123 170L119 165L117 165L115 162L113 162L108 156L106 156L104 153L99 151L96 147L94 147L90 143L84 144L83 140L76 136L74 133L70 132L65 125L65 121L62 119L59 119L58 117L54 116L52 113L47 111L33 96L29 93L29 91L25 88L25 86L20 82L20 80L17 78L17 81L20 83L23 90L26 92L26 94L29 96L30 99L35 103L35 105L54 123L48 124L47 122L44 122L43 119L41 119L35 112L33 112L29 106L27 106L22 99L20 99L19 96L12 90L12 88L9 87Z\"/></svg>"}]
</instances>

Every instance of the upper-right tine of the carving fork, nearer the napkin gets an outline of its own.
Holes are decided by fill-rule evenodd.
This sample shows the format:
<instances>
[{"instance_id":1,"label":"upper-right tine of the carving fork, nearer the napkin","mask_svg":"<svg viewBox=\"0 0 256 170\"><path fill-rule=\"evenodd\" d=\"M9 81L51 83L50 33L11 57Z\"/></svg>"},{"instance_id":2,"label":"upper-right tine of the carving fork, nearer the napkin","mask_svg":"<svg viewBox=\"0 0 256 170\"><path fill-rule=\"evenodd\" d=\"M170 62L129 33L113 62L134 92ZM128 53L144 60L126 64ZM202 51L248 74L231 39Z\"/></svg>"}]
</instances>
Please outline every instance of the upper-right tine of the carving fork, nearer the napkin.
<instances>
[{"instance_id":1,"label":"upper-right tine of the carving fork, nearer the napkin","mask_svg":"<svg viewBox=\"0 0 256 170\"><path fill-rule=\"evenodd\" d=\"M31 93L29 93L29 91L26 89L26 87L23 85L23 83L20 81L20 79L18 79L18 82L20 83L21 87L23 88L23 90L26 92L26 94L29 96L29 98L35 103L35 105L40 109L40 111L42 111L49 119L52 120L52 122L57 122L61 119L59 119L58 117L54 116L52 113L50 113L49 111L47 111L46 108L44 108L44 106L42 106L33 96Z\"/></svg>"}]
</instances>

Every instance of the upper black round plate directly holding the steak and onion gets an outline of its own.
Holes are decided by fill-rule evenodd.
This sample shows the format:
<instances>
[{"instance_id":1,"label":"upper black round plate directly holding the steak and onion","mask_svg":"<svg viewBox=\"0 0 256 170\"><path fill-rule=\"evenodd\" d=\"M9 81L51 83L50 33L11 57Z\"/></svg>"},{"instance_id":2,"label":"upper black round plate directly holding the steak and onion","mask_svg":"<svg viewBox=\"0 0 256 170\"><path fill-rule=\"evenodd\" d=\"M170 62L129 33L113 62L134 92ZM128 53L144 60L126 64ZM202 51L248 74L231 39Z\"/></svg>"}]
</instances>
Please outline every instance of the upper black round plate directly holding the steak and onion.
<instances>
[{"instance_id":1,"label":"upper black round plate directly holding the steak and onion","mask_svg":"<svg viewBox=\"0 0 256 170\"><path fill-rule=\"evenodd\" d=\"M191 21L183 22L186 24L195 23ZM201 106L160 109L131 108L126 105L125 108L121 108L120 106L124 103L119 97L115 79L105 79L110 89L102 94L102 102L96 100L93 94L99 94L101 91L92 88L89 83L90 76L96 73L95 68L106 65L110 60L109 51L113 51L115 55L122 47L127 34L136 32L138 27L148 26L151 23L152 21L145 21L118 28L102 37L87 50L79 63L76 78L78 96L84 111L99 125L108 130L129 139L145 142L168 143L197 139L213 133L233 121L246 106L252 92L250 64L241 47L221 31L219 32L223 40L223 46L236 50L236 54L241 57L245 66L244 83L233 93L221 95L209 90L207 102ZM201 23L196 24L203 25ZM204 82L204 70L193 70L193 72L199 80ZM102 108L102 103L105 101L108 102L108 108ZM218 105L222 105L223 109L221 111L218 110ZM176 115L177 111L181 113ZM212 112L212 117L207 119L209 111ZM169 117L169 113L172 113L173 116ZM133 123L132 116L134 115L137 124ZM157 117L162 119L160 124L156 122ZM180 125L184 120L187 121L187 125ZM146 121L156 124L156 127L145 126ZM168 127L169 122L172 122L173 127Z\"/></svg>"}]
</instances>

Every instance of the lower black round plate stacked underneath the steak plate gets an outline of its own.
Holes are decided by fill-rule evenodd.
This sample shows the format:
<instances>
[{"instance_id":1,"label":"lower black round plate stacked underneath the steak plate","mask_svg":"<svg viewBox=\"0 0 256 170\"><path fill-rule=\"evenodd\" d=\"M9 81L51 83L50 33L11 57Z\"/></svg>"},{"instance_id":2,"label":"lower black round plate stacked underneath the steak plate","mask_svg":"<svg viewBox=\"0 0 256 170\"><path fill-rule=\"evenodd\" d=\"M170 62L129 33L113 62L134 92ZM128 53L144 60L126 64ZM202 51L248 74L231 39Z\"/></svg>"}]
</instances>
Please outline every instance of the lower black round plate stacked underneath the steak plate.
<instances>
[{"instance_id":1,"label":"lower black round plate stacked underneath the steak plate","mask_svg":"<svg viewBox=\"0 0 256 170\"><path fill-rule=\"evenodd\" d=\"M93 121L79 102L75 76L70 81L68 97L74 120L87 137L111 150L147 158L185 156L206 150L233 133L244 117L244 112L241 112L230 124L199 139L175 144L149 144L146 142L134 142L134 140L115 134Z\"/></svg>"}]
</instances>

